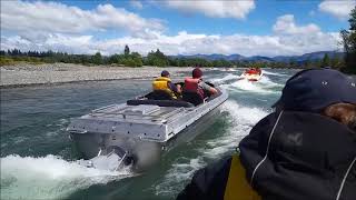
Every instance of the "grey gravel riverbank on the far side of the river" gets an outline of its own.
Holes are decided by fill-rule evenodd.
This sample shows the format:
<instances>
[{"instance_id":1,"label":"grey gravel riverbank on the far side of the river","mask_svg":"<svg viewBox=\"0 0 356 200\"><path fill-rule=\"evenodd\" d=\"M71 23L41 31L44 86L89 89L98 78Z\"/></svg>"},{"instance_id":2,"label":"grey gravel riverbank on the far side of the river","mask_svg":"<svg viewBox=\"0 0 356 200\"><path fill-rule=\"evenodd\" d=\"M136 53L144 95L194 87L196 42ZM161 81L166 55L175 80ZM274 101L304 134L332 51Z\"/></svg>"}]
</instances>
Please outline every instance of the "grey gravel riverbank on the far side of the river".
<instances>
[{"instance_id":1,"label":"grey gravel riverbank on the far side of the river","mask_svg":"<svg viewBox=\"0 0 356 200\"><path fill-rule=\"evenodd\" d=\"M28 84L62 83L92 80L119 80L154 78L165 68L142 67L126 68L111 66L87 67L71 63L46 63L2 66L0 68L0 87L19 87ZM168 68L172 77L191 71L192 68Z\"/></svg>"}]
</instances>

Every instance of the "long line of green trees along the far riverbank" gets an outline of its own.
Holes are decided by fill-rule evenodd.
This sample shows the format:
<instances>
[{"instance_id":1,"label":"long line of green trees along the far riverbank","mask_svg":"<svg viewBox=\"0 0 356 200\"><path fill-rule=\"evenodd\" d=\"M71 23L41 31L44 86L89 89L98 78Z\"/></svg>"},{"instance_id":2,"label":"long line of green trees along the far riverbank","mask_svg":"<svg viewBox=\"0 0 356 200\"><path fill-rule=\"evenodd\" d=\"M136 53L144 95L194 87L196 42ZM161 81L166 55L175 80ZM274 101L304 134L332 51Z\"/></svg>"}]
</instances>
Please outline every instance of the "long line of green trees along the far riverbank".
<instances>
[{"instance_id":1,"label":"long line of green trees along the far riverbank","mask_svg":"<svg viewBox=\"0 0 356 200\"><path fill-rule=\"evenodd\" d=\"M305 61L289 60L285 62L271 62L271 61L229 61L229 60L207 60L204 58L177 58L165 56L159 49L151 51L147 57L141 57L138 52L130 52L128 46L125 47L122 54L101 56L100 52L95 54L68 54L63 52L38 52L28 51L22 52L18 49L0 51L1 62L0 64L11 64L17 61L26 61L32 63L80 63L80 64L115 64L126 67L141 67L141 66L158 66L158 67L258 67L258 68L320 68L333 67L340 69L345 66L342 58L335 56L330 58L325 54L322 60L307 59Z\"/></svg>"}]
</instances>

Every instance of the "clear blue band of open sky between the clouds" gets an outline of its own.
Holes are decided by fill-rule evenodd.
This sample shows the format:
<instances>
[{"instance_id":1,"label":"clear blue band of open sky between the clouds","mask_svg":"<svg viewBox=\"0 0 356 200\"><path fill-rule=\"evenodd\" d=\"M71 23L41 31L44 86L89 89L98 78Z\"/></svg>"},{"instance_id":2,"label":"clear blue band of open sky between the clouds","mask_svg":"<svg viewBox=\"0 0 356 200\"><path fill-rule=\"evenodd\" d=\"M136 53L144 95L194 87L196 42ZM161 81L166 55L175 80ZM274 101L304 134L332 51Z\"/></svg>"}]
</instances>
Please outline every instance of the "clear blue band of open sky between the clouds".
<instances>
[{"instance_id":1,"label":"clear blue band of open sky between the clouds","mask_svg":"<svg viewBox=\"0 0 356 200\"><path fill-rule=\"evenodd\" d=\"M248 13L246 19L209 18L202 13L182 13L170 8L160 8L148 1L141 1L142 9L136 9L131 1L61 1L68 6L82 9L95 9L98 4L110 3L118 8L138 13L145 18L157 18L167 21L167 33L172 36L181 30L191 33L233 34L269 34L271 27L279 16L294 14L300 24L316 23L325 31L339 31L348 27L347 20L335 18L328 13L319 12L317 0L258 0L256 9ZM157 2L157 4L162 4ZM313 14L314 12L314 14Z\"/></svg>"}]
</instances>

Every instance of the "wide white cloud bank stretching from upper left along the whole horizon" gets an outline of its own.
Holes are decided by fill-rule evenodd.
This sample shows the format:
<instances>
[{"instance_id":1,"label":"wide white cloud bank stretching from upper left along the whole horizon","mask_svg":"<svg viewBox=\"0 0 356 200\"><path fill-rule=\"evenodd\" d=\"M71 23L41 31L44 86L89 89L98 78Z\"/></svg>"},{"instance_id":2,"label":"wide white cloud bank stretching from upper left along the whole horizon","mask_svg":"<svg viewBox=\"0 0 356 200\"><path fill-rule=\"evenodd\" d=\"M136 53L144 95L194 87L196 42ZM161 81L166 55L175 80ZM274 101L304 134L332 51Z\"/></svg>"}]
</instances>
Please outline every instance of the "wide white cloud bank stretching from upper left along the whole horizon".
<instances>
[{"instance_id":1,"label":"wide white cloud bank stretching from upper left along the whole horizon","mask_svg":"<svg viewBox=\"0 0 356 200\"><path fill-rule=\"evenodd\" d=\"M13 3L18 7L10 7ZM166 54L239 53L274 57L337 50L339 41L338 32L323 32L313 23L296 24L291 14L279 17L269 36L197 34L186 31L167 36L161 31L160 22L140 18L110 4L98 6L88 11L53 2L9 1L1 7L1 29L16 32L16 36L1 37L3 50L17 48L24 51L53 50L70 53L100 51L112 54L121 53L125 44L128 44L131 51L144 56L160 49ZM90 33L90 30L107 29L129 29L131 32L116 39L97 39Z\"/></svg>"}]
</instances>

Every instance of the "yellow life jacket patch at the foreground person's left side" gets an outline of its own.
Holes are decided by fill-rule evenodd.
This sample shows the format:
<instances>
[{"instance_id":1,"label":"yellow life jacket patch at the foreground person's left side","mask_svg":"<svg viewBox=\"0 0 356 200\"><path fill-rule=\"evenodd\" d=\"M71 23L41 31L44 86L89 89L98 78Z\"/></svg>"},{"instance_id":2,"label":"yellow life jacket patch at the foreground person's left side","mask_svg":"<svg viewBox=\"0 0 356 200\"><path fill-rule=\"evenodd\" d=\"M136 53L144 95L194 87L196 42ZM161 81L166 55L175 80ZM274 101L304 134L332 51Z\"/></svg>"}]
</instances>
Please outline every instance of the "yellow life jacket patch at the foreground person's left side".
<instances>
[{"instance_id":1,"label":"yellow life jacket patch at the foreground person's left side","mask_svg":"<svg viewBox=\"0 0 356 200\"><path fill-rule=\"evenodd\" d=\"M246 170L240 158L233 156L228 181L225 188L224 200L260 200L258 193L249 186Z\"/></svg>"}]
</instances>

